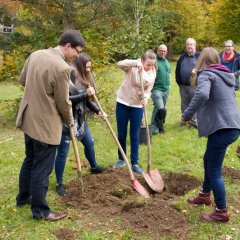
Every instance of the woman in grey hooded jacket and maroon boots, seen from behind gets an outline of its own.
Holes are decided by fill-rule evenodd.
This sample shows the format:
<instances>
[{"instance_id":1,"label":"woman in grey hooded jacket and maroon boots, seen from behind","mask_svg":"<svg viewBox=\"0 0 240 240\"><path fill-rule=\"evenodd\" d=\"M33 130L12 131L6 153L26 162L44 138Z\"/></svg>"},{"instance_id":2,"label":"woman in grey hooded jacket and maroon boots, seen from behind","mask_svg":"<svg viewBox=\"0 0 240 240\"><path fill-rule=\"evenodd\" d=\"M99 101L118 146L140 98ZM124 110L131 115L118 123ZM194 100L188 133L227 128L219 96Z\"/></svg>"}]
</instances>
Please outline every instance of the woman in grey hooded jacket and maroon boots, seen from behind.
<instances>
[{"instance_id":1,"label":"woman in grey hooded jacket and maroon boots, seen from behind","mask_svg":"<svg viewBox=\"0 0 240 240\"><path fill-rule=\"evenodd\" d=\"M198 133L207 137L204 154L204 181L196 197L188 199L192 205L210 205L213 192L216 208L211 214L201 214L207 222L228 222L226 192L222 178L222 164L227 147L240 134L240 112L234 93L235 77L220 65L214 48L204 48L193 76L196 93L189 107L182 114L182 121L191 120L197 112Z\"/></svg>"}]
</instances>

